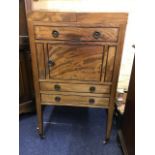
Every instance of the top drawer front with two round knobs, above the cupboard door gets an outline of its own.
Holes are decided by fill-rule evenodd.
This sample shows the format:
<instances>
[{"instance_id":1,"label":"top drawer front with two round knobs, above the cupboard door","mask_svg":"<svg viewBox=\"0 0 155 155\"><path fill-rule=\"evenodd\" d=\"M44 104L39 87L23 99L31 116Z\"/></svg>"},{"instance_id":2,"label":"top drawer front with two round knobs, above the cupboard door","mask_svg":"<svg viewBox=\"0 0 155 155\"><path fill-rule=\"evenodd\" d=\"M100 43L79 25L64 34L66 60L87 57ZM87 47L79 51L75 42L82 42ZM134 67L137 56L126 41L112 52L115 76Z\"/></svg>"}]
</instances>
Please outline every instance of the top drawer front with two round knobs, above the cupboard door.
<instances>
[{"instance_id":1,"label":"top drawer front with two round knobs, above the cupboard door","mask_svg":"<svg viewBox=\"0 0 155 155\"><path fill-rule=\"evenodd\" d=\"M35 38L70 41L109 41L118 40L118 28L80 28L35 26Z\"/></svg>"}]
</instances>

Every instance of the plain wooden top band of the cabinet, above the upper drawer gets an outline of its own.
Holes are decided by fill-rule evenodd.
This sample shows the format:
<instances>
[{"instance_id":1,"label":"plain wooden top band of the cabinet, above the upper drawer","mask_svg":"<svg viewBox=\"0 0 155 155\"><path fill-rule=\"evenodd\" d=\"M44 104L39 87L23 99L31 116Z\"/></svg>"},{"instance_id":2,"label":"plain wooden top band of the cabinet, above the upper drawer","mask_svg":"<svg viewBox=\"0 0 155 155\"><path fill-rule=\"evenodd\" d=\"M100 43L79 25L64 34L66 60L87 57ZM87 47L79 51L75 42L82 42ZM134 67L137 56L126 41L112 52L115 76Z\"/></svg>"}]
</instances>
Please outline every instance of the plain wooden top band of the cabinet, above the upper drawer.
<instances>
[{"instance_id":1,"label":"plain wooden top band of the cabinet, above the upper drawer","mask_svg":"<svg viewBox=\"0 0 155 155\"><path fill-rule=\"evenodd\" d=\"M126 24L128 13L92 13L92 12L49 12L32 11L28 14L29 21L35 22L72 22L72 23L117 23Z\"/></svg>"}]
</instances>

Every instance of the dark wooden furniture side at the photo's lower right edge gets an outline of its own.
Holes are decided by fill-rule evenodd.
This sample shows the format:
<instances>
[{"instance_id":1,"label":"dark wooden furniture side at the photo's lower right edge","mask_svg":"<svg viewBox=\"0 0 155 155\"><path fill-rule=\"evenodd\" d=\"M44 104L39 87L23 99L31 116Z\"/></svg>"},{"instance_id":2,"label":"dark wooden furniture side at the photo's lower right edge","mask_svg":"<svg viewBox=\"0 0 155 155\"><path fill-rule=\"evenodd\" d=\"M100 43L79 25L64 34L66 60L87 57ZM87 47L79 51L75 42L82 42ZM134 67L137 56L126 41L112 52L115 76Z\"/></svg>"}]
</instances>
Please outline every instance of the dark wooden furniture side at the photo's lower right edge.
<instances>
[{"instance_id":1,"label":"dark wooden furniture side at the photo's lower right edge","mask_svg":"<svg viewBox=\"0 0 155 155\"><path fill-rule=\"evenodd\" d=\"M125 112L122 116L118 136L124 155L135 155L135 58L130 76Z\"/></svg>"}]
</instances>

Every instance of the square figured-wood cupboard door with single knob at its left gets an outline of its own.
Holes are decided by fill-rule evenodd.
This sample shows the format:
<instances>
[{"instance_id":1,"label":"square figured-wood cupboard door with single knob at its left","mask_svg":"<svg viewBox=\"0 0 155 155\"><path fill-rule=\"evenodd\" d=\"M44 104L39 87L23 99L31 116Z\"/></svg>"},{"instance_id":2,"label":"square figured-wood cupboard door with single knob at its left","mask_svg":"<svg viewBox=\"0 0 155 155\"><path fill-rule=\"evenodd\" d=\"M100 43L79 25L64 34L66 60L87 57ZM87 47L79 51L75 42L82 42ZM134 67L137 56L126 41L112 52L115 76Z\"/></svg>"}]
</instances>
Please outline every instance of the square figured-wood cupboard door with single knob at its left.
<instances>
[{"instance_id":1,"label":"square figured-wood cupboard door with single knob at its left","mask_svg":"<svg viewBox=\"0 0 155 155\"><path fill-rule=\"evenodd\" d=\"M103 46L48 45L50 79L100 81Z\"/></svg>"}]
</instances>

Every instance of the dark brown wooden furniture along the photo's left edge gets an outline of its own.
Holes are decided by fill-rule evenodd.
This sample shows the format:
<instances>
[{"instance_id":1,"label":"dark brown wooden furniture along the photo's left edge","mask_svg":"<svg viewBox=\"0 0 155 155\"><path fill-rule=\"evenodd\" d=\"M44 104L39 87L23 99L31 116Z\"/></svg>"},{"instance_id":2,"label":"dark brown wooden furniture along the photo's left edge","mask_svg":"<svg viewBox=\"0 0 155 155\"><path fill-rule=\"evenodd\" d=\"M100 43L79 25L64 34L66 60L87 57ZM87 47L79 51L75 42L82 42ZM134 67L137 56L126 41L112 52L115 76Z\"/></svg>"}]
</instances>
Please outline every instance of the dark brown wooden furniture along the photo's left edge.
<instances>
[{"instance_id":1,"label":"dark brown wooden furniture along the photo's left edge","mask_svg":"<svg viewBox=\"0 0 155 155\"><path fill-rule=\"evenodd\" d=\"M34 89L24 0L19 0L19 113L32 112Z\"/></svg>"}]
</instances>

